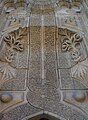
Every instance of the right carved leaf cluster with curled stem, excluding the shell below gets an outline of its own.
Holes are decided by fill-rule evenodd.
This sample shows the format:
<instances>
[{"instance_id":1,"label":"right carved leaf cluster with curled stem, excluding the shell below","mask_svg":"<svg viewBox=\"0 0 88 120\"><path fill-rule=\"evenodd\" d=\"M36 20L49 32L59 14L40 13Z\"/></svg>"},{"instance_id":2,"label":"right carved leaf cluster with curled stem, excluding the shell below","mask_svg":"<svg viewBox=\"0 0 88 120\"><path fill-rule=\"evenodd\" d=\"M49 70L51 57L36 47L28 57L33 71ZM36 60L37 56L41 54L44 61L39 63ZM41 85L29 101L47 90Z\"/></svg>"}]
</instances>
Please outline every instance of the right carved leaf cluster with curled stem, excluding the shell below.
<instances>
[{"instance_id":1,"label":"right carved leaf cluster with curled stem, excluding the shell below","mask_svg":"<svg viewBox=\"0 0 88 120\"><path fill-rule=\"evenodd\" d=\"M71 59L75 62L79 62L81 59L81 53L79 49L82 40L83 38L77 33L71 33L65 30L61 48L63 52L70 52Z\"/></svg>"}]
</instances>

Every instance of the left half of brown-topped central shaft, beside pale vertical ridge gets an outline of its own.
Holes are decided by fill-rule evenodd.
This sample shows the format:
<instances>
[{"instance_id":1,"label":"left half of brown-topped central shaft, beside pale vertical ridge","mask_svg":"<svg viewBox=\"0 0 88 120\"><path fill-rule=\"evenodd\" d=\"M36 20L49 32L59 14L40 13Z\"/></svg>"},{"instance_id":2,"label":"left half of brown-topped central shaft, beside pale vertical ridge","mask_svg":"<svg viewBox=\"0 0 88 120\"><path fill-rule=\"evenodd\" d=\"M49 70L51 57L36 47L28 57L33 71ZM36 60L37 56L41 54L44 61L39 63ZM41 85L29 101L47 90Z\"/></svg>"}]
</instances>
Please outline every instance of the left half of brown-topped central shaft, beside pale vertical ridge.
<instances>
[{"instance_id":1,"label":"left half of brown-topped central shaft, beside pale vertical ridge","mask_svg":"<svg viewBox=\"0 0 88 120\"><path fill-rule=\"evenodd\" d=\"M30 86L35 80L41 81L42 74L42 53L41 53L41 27L30 26L30 53L29 53L29 71L27 86ZM30 84L31 83L31 84Z\"/></svg>"}]
</instances>

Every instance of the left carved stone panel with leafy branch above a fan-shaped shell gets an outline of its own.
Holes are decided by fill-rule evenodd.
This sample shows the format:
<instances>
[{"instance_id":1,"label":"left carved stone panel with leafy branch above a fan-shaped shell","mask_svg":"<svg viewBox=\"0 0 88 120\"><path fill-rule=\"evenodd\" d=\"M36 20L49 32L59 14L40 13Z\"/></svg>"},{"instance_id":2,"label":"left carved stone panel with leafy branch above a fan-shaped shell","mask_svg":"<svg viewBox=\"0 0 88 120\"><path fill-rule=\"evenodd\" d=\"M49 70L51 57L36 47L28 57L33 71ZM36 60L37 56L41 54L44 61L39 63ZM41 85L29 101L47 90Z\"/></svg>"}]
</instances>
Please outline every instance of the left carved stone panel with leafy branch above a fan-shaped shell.
<instances>
[{"instance_id":1,"label":"left carved stone panel with leafy branch above a fan-shaped shell","mask_svg":"<svg viewBox=\"0 0 88 120\"><path fill-rule=\"evenodd\" d=\"M13 90L13 85L11 86L11 82L14 81L17 83L17 80L19 79L21 82L25 82L28 68L27 60L29 44L27 31L27 28L19 28L18 30L8 34L6 33L2 36L2 48L0 51L0 89ZM8 84L12 87L12 89L10 86L9 88L6 87L8 86L8 84L6 85L7 82L9 82ZM22 86L24 86L24 84ZM15 87L16 86L14 86L14 89L17 90L17 87Z\"/></svg>"}]
</instances>

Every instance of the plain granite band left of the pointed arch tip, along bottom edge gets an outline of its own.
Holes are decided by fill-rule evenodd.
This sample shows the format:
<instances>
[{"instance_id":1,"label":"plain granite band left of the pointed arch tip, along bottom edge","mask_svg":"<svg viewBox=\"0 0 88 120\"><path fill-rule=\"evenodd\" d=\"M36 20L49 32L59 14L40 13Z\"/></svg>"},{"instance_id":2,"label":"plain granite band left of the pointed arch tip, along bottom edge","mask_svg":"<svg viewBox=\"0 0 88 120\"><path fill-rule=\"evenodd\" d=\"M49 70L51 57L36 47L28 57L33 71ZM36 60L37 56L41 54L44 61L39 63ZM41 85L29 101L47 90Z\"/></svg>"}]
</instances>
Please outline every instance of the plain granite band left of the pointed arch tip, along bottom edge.
<instances>
[{"instance_id":1,"label":"plain granite band left of the pointed arch tip, along bottom edge","mask_svg":"<svg viewBox=\"0 0 88 120\"><path fill-rule=\"evenodd\" d=\"M4 113L2 120L22 120L23 118L41 112L41 109L35 108L28 103L20 105L7 113Z\"/></svg>"}]
</instances>

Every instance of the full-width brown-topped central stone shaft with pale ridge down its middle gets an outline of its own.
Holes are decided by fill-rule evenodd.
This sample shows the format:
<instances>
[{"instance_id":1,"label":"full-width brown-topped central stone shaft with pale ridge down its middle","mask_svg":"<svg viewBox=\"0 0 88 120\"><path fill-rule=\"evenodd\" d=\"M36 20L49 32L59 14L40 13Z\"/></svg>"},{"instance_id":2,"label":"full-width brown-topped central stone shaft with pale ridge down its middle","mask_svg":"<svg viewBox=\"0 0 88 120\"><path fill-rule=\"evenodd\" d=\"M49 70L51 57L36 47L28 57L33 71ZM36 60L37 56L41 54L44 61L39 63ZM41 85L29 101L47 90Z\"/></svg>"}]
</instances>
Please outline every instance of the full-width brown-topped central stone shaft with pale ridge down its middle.
<instances>
[{"instance_id":1,"label":"full-width brown-topped central stone shaft with pale ridge down its middle","mask_svg":"<svg viewBox=\"0 0 88 120\"><path fill-rule=\"evenodd\" d=\"M55 51L55 27L30 27L30 57L28 84L51 84L57 86L57 67ZM35 81L35 82L34 82Z\"/></svg>"}]
</instances>

